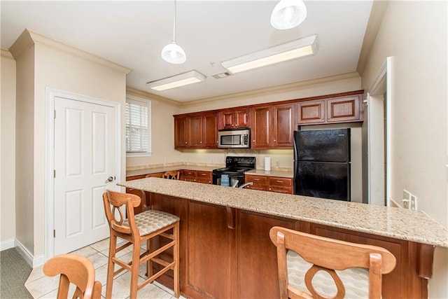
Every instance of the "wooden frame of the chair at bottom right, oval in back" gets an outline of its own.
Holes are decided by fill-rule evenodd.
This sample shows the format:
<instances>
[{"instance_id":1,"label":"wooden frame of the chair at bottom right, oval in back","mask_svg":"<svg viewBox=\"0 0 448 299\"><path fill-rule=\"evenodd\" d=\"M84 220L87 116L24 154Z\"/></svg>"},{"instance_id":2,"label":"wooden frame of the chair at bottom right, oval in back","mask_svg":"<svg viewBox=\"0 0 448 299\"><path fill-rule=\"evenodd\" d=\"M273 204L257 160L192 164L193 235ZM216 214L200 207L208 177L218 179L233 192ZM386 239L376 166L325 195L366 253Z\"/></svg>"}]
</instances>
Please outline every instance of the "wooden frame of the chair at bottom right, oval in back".
<instances>
[{"instance_id":1,"label":"wooden frame of the chair at bottom right, oval in back","mask_svg":"<svg viewBox=\"0 0 448 299\"><path fill-rule=\"evenodd\" d=\"M318 293L311 281L316 272L322 270L330 274L335 282L337 293L332 298L344 298L345 287L335 270L351 267L363 267L369 270L369 298L381 298L381 275L395 267L395 256L379 246L370 246L339 241L287 228L275 226L269 231L269 237L277 247L280 298L328 298ZM286 253L297 252L311 267L304 275L307 291L300 291L288 282ZM330 297L331 298L331 297Z\"/></svg>"}]
</instances>

